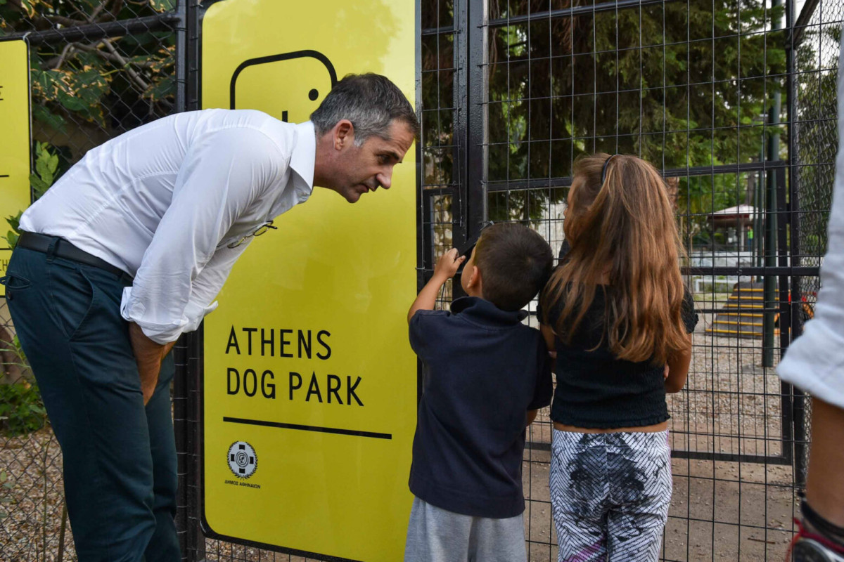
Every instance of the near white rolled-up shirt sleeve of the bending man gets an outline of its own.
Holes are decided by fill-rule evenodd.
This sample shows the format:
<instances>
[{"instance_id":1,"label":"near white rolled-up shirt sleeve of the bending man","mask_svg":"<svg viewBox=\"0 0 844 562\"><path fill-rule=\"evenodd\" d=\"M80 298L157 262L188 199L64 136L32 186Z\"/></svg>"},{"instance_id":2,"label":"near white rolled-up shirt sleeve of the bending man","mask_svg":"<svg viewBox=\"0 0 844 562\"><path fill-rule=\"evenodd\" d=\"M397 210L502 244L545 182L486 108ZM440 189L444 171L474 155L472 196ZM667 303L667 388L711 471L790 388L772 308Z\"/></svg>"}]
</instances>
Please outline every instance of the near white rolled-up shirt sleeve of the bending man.
<instances>
[{"instance_id":1,"label":"near white rolled-up shirt sleeve of the bending man","mask_svg":"<svg viewBox=\"0 0 844 562\"><path fill-rule=\"evenodd\" d=\"M123 291L122 317L160 344L196 329L246 246L221 241L286 165L279 148L252 130L216 131L192 147L133 286Z\"/></svg>"}]
</instances>

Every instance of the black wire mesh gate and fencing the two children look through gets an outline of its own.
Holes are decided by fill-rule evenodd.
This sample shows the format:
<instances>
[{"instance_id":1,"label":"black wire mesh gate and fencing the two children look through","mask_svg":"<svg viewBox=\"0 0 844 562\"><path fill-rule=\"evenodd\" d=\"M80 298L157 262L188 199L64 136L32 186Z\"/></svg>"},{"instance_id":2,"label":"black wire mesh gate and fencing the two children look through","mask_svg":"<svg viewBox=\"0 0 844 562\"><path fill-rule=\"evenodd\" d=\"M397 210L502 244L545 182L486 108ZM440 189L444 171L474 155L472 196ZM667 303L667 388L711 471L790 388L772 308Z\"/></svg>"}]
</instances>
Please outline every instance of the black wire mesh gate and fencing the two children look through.
<instances>
[{"instance_id":1,"label":"black wire mesh gate and fencing the two children look through","mask_svg":"<svg viewBox=\"0 0 844 562\"><path fill-rule=\"evenodd\" d=\"M467 185L458 194L480 182L482 220L522 222L556 251L583 153L639 155L674 196L701 322L688 383L668 397L674 496L663 559L782 559L808 415L775 367L812 316L825 251L841 6L490 0L466 11L466 58L484 51L486 165L455 179ZM484 13L477 29L473 12ZM473 131L458 120L455 135L459 146ZM443 222L471 230L479 211L452 212L464 216ZM446 247L425 246L427 268ZM556 559L550 440L543 412L523 478L534 560Z\"/></svg>"}]
</instances>

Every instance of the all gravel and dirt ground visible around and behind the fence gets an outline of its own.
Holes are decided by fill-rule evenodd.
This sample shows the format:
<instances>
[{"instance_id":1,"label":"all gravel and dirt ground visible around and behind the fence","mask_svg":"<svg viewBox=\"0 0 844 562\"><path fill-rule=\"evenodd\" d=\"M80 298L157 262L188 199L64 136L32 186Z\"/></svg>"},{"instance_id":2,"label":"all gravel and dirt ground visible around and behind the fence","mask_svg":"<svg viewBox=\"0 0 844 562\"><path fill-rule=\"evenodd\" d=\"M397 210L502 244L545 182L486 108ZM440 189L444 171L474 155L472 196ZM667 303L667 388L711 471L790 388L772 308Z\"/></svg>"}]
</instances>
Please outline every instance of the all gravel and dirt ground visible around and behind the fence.
<instances>
[{"instance_id":1,"label":"all gravel and dirt ground visible around and behind the fence","mask_svg":"<svg viewBox=\"0 0 844 562\"><path fill-rule=\"evenodd\" d=\"M701 314L689 381L669 397L675 451L778 456L782 399L772 368L762 368L761 341L706 335ZM775 354L778 355L778 354ZM548 470L551 429L540 412L525 452L525 532L530 559L556 559ZM792 536L792 469L773 463L674 458L674 497L666 528L666 560L782 560ZM3 476L5 474L5 477ZM49 429L0 437L0 562L57 560L62 526L61 455ZM64 560L75 560L65 538ZM210 561L306 559L206 541Z\"/></svg>"}]
</instances>

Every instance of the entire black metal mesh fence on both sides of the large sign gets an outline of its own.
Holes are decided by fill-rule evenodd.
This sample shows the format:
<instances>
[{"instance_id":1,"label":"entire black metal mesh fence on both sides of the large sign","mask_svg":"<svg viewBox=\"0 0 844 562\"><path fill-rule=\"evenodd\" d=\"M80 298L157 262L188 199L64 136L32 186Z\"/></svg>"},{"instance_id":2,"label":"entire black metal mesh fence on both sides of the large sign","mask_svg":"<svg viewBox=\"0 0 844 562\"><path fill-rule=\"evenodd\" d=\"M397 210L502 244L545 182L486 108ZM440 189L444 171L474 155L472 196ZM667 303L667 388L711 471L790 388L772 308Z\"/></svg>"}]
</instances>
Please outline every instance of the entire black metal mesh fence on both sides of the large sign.
<instances>
[{"instance_id":1,"label":"entire black metal mesh fence on both sides of the large sign","mask_svg":"<svg viewBox=\"0 0 844 562\"><path fill-rule=\"evenodd\" d=\"M0 34L28 34L33 137L57 155L53 176L111 136L198 108L201 8L165 0L0 6ZM689 382L669 398L674 499L663 559L781 560L809 413L774 367L811 316L820 283L844 3L437 0L420 10L419 282L488 219L534 227L557 249L578 154L636 153L655 163L677 191L684 272L701 314ZM751 210L717 215L742 205ZM734 292L738 281L758 294ZM447 286L442 306L452 294ZM3 301L0 328L4 348L14 349ZM203 538L200 342L190 337L177 349L173 391L185 557L300 560ZM550 438L545 411L523 465L529 559L537 561L556 559ZM60 472L49 428L9 436L7 427L0 559L75 559Z\"/></svg>"}]
</instances>

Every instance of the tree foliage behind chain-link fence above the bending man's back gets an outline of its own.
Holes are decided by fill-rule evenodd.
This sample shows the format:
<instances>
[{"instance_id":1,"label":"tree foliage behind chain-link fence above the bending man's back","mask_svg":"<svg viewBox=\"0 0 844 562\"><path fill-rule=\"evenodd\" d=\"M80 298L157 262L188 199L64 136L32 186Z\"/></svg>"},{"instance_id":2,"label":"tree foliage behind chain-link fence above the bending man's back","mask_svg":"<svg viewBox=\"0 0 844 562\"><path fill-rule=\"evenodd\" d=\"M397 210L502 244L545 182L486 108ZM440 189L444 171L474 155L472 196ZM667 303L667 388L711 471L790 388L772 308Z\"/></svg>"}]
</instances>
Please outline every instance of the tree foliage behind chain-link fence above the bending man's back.
<instances>
[{"instance_id":1,"label":"tree foliage behind chain-link fence above the bending man's back","mask_svg":"<svg viewBox=\"0 0 844 562\"><path fill-rule=\"evenodd\" d=\"M0 36L150 16L174 0L0 0ZM57 147L57 175L123 131L173 110L170 31L35 43L30 50L33 138Z\"/></svg>"}]
</instances>

